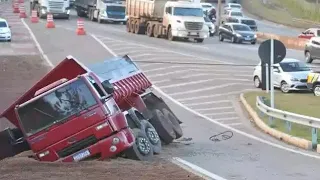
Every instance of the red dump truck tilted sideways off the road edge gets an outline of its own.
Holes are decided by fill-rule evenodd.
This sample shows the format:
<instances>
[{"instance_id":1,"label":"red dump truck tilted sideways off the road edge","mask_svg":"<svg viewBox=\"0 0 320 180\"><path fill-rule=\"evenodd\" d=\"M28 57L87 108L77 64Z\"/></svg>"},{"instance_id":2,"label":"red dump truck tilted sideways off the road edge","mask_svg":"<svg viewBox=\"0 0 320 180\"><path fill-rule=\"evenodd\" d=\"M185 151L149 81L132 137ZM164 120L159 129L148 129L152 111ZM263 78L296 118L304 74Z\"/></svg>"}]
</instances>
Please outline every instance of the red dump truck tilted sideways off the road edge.
<instances>
[{"instance_id":1,"label":"red dump truck tilted sideways off the road edge","mask_svg":"<svg viewBox=\"0 0 320 180\"><path fill-rule=\"evenodd\" d=\"M149 160L182 136L181 121L152 92L129 56L85 66L68 56L0 117L12 142L27 141L39 161L81 161L124 155Z\"/></svg>"}]
</instances>

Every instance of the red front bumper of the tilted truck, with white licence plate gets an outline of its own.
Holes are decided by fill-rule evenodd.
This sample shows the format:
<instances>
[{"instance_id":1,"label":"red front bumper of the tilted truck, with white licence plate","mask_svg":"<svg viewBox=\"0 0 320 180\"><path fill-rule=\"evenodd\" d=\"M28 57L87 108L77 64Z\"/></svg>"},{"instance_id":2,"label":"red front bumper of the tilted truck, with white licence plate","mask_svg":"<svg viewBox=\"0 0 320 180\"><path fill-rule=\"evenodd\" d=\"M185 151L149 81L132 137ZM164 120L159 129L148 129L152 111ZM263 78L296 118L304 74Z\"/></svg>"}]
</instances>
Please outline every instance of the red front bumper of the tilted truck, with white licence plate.
<instances>
[{"instance_id":1,"label":"red front bumper of the tilted truck, with white licence plate","mask_svg":"<svg viewBox=\"0 0 320 180\"><path fill-rule=\"evenodd\" d=\"M120 141L115 143L114 139L118 138ZM127 128L119 131L117 134L112 135L108 138L100 140L94 145L89 146L79 152L76 152L70 156L65 157L62 162L76 162L83 160L88 157L94 157L100 154L100 160L113 157L120 152L130 148L134 143L134 135L132 131ZM81 157L81 159L76 159L75 157Z\"/></svg>"}]
</instances>

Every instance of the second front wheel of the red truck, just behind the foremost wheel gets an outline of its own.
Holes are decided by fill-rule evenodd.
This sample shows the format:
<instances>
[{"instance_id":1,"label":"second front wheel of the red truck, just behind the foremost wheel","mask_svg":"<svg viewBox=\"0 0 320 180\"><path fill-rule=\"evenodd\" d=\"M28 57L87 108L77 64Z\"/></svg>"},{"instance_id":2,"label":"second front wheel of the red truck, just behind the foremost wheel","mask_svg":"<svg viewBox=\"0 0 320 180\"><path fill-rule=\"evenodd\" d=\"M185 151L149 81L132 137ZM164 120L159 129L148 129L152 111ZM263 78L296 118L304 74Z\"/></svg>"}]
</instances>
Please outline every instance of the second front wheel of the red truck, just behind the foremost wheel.
<instances>
[{"instance_id":1,"label":"second front wheel of the red truck, just behind the foremost wheel","mask_svg":"<svg viewBox=\"0 0 320 180\"><path fill-rule=\"evenodd\" d=\"M160 139L156 129L147 120L141 120L141 128L140 129L148 137L148 140L150 141L152 149L153 149L153 153L160 154L160 152L162 150L161 139Z\"/></svg>"}]
</instances>

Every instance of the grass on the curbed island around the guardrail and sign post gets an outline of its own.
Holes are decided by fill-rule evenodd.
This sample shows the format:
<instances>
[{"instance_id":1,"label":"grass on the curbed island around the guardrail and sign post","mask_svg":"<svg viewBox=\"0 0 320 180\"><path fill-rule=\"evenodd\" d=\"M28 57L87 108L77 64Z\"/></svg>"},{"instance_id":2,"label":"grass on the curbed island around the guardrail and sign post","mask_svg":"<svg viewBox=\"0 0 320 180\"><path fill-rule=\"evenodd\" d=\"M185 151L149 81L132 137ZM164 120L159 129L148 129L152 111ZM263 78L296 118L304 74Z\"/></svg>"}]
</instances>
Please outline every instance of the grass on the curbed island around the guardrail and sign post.
<instances>
[{"instance_id":1,"label":"grass on the curbed island around the guardrail and sign post","mask_svg":"<svg viewBox=\"0 0 320 180\"><path fill-rule=\"evenodd\" d=\"M244 98L247 102L251 105L251 107L256 111L259 112L258 108L256 107L256 97L257 96L264 96L269 100L269 94L265 92L248 92L244 94ZM319 113L320 107L320 98L315 97L313 94L297 94L297 93L290 93L290 94L283 94L281 92L275 92L275 108L302 114L306 116L320 118ZM260 113L258 113L260 114ZM264 115L260 116L260 118L266 123L269 123L269 118ZM273 121L274 126L272 128L277 129L279 131L285 132L292 136L304 138L307 140L311 140L311 128L307 126L302 126L299 124L292 123L291 131L288 132L286 129L286 122L274 119ZM320 142L320 133L318 133L318 142Z\"/></svg>"}]
</instances>

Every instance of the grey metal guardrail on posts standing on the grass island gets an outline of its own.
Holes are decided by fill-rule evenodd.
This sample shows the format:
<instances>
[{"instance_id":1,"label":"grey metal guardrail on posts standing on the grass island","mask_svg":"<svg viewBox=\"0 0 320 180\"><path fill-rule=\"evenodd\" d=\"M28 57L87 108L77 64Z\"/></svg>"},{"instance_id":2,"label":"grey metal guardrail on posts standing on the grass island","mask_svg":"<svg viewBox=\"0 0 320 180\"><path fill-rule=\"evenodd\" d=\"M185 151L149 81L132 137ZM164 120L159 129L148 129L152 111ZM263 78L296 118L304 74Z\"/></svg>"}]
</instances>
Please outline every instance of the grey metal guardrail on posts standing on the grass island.
<instances>
[{"instance_id":1,"label":"grey metal guardrail on posts standing on the grass island","mask_svg":"<svg viewBox=\"0 0 320 180\"><path fill-rule=\"evenodd\" d=\"M318 129L320 128L320 119L310 116L304 116L300 114L295 114L288 111L283 111L265 104L264 97L258 96L256 100L256 106L263 113L269 117L276 118L286 122L286 130L291 131L291 123L296 123L299 125L304 125L311 127L311 142L312 147L316 148L318 144ZM270 124L269 124L270 125ZM271 124L272 125L272 124Z\"/></svg>"}]
</instances>

